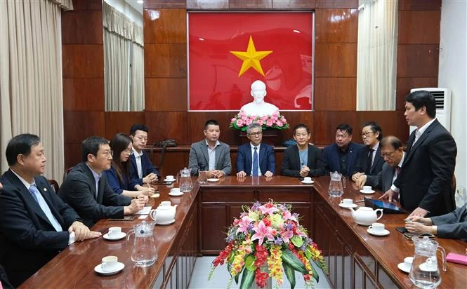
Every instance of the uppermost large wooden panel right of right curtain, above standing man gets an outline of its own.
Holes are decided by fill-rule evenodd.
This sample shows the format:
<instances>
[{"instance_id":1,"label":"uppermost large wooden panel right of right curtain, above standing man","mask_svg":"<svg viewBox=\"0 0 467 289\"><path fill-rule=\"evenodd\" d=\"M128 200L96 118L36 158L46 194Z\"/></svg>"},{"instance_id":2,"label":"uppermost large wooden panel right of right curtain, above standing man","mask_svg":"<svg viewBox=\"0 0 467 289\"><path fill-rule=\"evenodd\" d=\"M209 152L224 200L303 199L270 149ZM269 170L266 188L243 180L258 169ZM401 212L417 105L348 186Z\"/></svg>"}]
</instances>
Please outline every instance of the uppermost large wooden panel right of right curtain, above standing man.
<instances>
[{"instance_id":1,"label":"uppermost large wooden panel right of right curtain, above standing man","mask_svg":"<svg viewBox=\"0 0 467 289\"><path fill-rule=\"evenodd\" d=\"M399 11L397 44L439 44L441 11Z\"/></svg>"}]
</instances>

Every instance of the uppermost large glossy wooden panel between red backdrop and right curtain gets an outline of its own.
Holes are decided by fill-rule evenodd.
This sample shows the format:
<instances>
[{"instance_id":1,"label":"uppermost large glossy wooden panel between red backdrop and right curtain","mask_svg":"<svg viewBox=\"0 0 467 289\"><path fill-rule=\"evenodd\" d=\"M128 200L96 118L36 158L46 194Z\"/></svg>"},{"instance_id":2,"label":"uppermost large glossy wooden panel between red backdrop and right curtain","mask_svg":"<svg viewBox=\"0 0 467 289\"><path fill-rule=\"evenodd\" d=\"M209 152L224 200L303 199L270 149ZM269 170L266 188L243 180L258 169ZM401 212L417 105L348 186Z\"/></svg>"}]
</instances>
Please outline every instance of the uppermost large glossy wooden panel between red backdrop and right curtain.
<instances>
[{"instance_id":1,"label":"uppermost large glossy wooden panel between red backdrop and right curtain","mask_svg":"<svg viewBox=\"0 0 467 289\"><path fill-rule=\"evenodd\" d=\"M315 43L357 43L357 9L317 9Z\"/></svg>"}]
</instances>

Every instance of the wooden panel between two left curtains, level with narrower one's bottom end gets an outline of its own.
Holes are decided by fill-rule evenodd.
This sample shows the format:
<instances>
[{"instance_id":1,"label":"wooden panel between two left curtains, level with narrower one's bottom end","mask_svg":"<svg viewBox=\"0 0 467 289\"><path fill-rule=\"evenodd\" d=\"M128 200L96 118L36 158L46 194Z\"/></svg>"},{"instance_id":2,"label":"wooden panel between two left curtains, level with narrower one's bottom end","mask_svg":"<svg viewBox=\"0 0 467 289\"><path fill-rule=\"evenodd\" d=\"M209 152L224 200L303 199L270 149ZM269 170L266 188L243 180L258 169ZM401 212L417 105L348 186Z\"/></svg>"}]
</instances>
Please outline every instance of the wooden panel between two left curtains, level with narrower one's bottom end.
<instances>
[{"instance_id":1,"label":"wooden panel between two left curtains, level with narrower one's bottom end","mask_svg":"<svg viewBox=\"0 0 467 289\"><path fill-rule=\"evenodd\" d=\"M103 111L104 79L63 79L63 109Z\"/></svg>"}]
</instances>

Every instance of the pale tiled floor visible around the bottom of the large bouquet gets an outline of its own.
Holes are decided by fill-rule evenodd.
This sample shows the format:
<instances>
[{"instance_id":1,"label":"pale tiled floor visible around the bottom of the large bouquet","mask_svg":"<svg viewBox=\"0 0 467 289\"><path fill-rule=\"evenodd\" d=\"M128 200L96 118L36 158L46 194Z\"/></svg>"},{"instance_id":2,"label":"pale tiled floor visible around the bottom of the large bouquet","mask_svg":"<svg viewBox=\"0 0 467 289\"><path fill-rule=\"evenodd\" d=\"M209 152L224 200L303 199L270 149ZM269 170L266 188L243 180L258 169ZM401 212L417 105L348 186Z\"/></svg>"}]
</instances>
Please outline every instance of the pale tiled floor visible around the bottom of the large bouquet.
<instances>
[{"instance_id":1,"label":"pale tiled floor visible around the bottom of the large bouquet","mask_svg":"<svg viewBox=\"0 0 467 289\"><path fill-rule=\"evenodd\" d=\"M210 281L208 281L208 274L209 270L211 269L211 263L213 260L213 256L197 258L195 270L193 271L189 288L225 288L230 279L230 274L228 273L227 266L225 264L223 266L217 267L214 271L213 277ZM321 270L318 269L317 271L320 273L320 283L315 283L315 288L331 288L329 283L327 283L326 277L321 273ZM295 276L295 288L305 288L303 278L301 278L301 276L297 273ZM233 282L231 288L239 288L239 285ZM274 284L272 285L272 288L274 288ZM287 277L284 276L284 284L279 288L290 288L290 283L287 281Z\"/></svg>"}]
</instances>

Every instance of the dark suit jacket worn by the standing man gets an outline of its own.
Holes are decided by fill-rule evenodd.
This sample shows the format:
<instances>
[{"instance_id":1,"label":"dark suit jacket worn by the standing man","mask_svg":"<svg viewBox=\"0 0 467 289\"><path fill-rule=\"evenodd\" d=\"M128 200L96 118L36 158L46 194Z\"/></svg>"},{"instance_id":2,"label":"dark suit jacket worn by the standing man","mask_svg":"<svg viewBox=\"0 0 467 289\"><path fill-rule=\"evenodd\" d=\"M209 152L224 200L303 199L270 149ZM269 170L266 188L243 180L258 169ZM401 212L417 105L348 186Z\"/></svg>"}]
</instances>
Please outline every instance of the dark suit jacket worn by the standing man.
<instances>
[{"instance_id":1,"label":"dark suit jacket worn by the standing man","mask_svg":"<svg viewBox=\"0 0 467 289\"><path fill-rule=\"evenodd\" d=\"M415 130L407 142L407 153L395 186L407 210L417 207L431 216L444 215L456 208L452 175L456 167L456 142L438 120L433 121L412 146Z\"/></svg>"}]
</instances>

